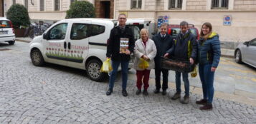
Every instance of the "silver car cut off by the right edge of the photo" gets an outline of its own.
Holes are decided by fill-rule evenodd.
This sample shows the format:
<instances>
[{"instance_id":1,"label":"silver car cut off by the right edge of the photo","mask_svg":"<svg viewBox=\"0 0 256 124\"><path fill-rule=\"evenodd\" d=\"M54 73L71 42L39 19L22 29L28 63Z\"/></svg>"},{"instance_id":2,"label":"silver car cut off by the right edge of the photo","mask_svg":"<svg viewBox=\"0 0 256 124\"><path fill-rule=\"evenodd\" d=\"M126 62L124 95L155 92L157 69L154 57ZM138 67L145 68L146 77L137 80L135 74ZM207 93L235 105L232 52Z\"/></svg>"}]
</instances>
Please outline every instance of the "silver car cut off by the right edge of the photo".
<instances>
[{"instance_id":1,"label":"silver car cut off by the right edge of the photo","mask_svg":"<svg viewBox=\"0 0 256 124\"><path fill-rule=\"evenodd\" d=\"M247 63L256 68L256 38L240 43L234 51L237 63Z\"/></svg>"}]
</instances>

